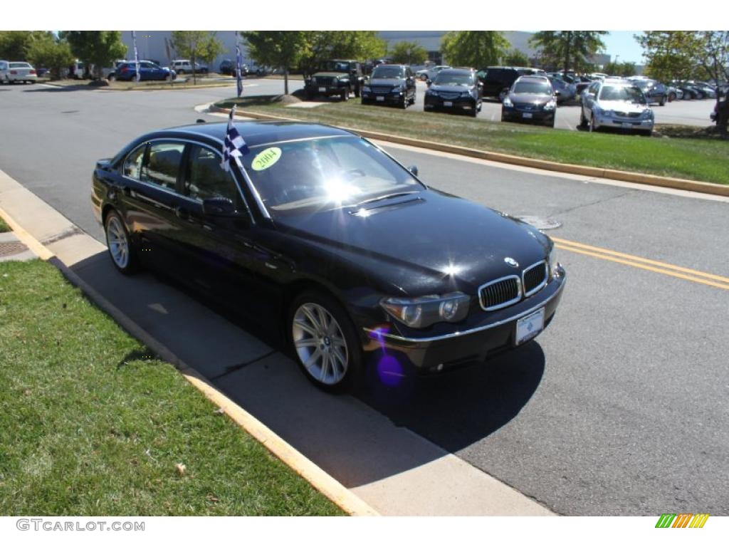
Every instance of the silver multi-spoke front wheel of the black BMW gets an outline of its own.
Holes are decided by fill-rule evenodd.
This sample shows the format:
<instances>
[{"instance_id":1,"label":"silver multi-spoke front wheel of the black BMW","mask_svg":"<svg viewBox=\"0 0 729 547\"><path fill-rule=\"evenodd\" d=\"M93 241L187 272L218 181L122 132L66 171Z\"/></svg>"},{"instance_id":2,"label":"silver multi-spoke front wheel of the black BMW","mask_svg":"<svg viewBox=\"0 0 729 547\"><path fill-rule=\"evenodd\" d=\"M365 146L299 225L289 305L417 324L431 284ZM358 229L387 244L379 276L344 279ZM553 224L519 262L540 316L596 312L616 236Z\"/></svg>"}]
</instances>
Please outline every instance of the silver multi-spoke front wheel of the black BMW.
<instances>
[{"instance_id":1,"label":"silver multi-spoke front wheel of the black BMW","mask_svg":"<svg viewBox=\"0 0 729 547\"><path fill-rule=\"evenodd\" d=\"M303 303L292 320L292 340L304 370L317 382L338 384L346 376L349 352L332 314L316 303Z\"/></svg>"}]
</instances>

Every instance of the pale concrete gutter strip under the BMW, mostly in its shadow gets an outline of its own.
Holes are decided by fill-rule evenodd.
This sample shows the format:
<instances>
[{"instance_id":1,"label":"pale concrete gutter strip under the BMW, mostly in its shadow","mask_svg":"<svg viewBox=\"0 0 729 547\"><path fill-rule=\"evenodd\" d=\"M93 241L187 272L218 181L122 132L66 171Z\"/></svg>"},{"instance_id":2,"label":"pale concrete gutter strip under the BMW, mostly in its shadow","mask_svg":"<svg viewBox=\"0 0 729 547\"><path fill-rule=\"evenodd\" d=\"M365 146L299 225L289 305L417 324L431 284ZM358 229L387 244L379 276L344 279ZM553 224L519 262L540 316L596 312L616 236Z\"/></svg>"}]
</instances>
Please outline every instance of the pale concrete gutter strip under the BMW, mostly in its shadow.
<instances>
[{"instance_id":1,"label":"pale concrete gutter strip under the BMW, mostly in its shadow","mask_svg":"<svg viewBox=\"0 0 729 547\"><path fill-rule=\"evenodd\" d=\"M0 171L0 208L101 298L383 515L552 515L544 506L349 395L320 392L277 343L106 247ZM260 333L263 335L263 333ZM378 389L374 386L373 389ZM384 397L388 396L383 392Z\"/></svg>"}]
</instances>

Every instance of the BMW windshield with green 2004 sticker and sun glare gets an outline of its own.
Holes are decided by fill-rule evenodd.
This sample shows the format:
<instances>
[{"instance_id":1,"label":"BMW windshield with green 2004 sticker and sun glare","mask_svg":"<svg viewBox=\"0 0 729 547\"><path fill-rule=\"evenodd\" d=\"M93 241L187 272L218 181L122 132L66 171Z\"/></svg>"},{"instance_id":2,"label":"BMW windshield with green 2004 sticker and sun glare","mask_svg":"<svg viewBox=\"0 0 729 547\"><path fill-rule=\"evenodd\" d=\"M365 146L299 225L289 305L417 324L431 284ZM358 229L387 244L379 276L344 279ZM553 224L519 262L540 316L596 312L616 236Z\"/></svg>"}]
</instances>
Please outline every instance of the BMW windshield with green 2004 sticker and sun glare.
<instances>
[{"instance_id":1,"label":"BMW windshield with green 2004 sticker and sun glare","mask_svg":"<svg viewBox=\"0 0 729 547\"><path fill-rule=\"evenodd\" d=\"M356 136L253 147L243 167L272 217L424 190L408 170Z\"/></svg>"}]
</instances>

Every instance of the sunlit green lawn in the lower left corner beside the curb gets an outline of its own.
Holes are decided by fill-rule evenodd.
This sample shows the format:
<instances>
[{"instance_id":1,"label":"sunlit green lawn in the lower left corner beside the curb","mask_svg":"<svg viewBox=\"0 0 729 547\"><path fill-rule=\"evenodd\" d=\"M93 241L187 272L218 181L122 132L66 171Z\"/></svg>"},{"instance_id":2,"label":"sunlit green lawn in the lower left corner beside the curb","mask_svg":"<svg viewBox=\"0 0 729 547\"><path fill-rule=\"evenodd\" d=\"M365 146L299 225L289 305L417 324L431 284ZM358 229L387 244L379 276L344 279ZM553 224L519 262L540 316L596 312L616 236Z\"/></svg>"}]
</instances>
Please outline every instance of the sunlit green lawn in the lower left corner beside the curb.
<instances>
[{"instance_id":1,"label":"sunlit green lawn in the lower left corner beside the curb","mask_svg":"<svg viewBox=\"0 0 729 547\"><path fill-rule=\"evenodd\" d=\"M342 512L36 260L0 263L0 514Z\"/></svg>"}]
</instances>

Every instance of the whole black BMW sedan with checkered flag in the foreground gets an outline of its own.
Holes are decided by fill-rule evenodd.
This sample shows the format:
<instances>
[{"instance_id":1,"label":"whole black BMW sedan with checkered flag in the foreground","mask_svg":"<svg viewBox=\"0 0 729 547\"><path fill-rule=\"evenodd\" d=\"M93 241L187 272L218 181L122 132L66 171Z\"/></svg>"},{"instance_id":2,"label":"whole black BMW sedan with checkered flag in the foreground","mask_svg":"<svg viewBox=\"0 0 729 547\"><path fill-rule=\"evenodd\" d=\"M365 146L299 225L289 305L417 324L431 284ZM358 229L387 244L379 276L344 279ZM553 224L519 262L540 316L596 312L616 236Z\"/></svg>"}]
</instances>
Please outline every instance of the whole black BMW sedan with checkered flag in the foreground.
<instances>
[{"instance_id":1,"label":"whole black BMW sedan with checkered flag in the foreground","mask_svg":"<svg viewBox=\"0 0 729 547\"><path fill-rule=\"evenodd\" d=\"M305 376L342 389L484 360L539 334L565 282L550 238L432 190L354 133L225 123L140 136L93 172L92 202L123 274L161 268L280 328ZM205 341L200 341L205 344Z\"/></svg>"}]
</instances>

